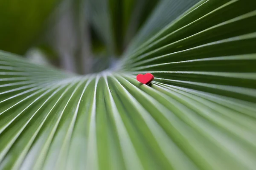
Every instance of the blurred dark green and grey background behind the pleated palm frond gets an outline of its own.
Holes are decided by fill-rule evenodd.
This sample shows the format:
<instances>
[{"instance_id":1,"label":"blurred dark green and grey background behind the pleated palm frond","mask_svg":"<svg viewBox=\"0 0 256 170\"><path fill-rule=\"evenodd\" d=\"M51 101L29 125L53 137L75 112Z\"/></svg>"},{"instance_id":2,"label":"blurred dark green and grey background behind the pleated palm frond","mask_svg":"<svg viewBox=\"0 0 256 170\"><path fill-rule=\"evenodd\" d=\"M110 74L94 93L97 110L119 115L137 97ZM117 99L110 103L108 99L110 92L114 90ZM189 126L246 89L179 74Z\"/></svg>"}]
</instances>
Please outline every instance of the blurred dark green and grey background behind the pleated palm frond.
<instances>
[{"instance_id":1,"label":"blurred dark green and grey background behind the pleated palm frond","mask_svg":"<svg viewBox=\"0 0 256 170\"><path fill-rule=\"evenodd\" d=\"M0 50L73 73L102 71L116 63L160 1L0 0Z\"/></svg>"}]
</instances>

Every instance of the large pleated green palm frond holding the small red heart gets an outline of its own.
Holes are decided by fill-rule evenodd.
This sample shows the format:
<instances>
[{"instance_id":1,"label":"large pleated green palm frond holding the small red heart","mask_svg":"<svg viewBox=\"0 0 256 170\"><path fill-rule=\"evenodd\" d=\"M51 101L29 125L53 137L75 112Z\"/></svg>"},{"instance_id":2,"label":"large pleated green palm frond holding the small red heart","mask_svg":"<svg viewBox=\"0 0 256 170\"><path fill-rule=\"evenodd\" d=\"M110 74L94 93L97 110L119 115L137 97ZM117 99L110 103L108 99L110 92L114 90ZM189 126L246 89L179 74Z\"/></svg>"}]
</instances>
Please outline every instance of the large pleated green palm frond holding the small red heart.
<instances>
[{"instance_id":1,"label":"large pleated green palm frond holding the small red heart","mask_svg":"<svg viewBox=\"0 0 256 170\"><path fill-rule=\"evenodd\" d=\"M255 169L256 2L161 3L116 69L0 52L0 169Z\"/></svg>"}]
</instances>

